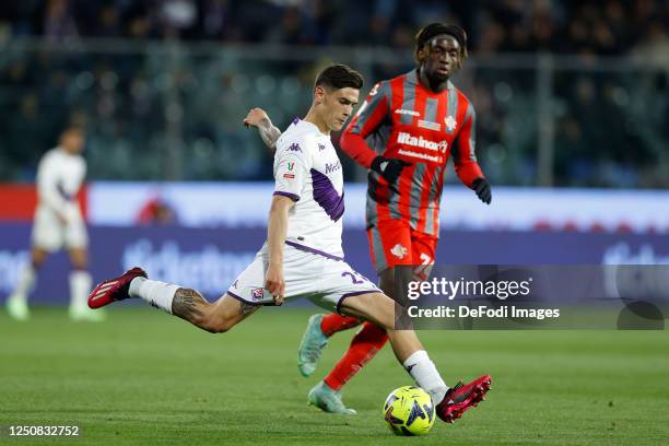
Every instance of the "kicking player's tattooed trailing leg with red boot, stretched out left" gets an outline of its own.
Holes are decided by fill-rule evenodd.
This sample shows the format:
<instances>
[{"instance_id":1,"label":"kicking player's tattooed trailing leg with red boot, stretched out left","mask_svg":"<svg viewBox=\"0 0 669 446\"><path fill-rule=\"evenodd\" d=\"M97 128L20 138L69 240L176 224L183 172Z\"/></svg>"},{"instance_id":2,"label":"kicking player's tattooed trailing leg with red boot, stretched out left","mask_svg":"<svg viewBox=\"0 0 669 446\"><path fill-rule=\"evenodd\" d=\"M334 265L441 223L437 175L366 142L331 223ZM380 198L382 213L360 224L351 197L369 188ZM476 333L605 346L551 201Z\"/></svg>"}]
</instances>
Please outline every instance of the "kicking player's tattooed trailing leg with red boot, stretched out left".
<instances>
[{"instance_id":1,"label":"kicking player's tattooed trailing leg with red boot, stretched out left","mask_svg":"<svg viewBox=\"0 0 669 446\"><path fill-rule=\"evenodd\" d=\"M89 306L99 308L129 297L140 297L212 333L230 330L260 308L228 294L209 303L196 290L149 280L146 273L137 267L98 284L89 296Z\"/></svg>"}]
</instances>

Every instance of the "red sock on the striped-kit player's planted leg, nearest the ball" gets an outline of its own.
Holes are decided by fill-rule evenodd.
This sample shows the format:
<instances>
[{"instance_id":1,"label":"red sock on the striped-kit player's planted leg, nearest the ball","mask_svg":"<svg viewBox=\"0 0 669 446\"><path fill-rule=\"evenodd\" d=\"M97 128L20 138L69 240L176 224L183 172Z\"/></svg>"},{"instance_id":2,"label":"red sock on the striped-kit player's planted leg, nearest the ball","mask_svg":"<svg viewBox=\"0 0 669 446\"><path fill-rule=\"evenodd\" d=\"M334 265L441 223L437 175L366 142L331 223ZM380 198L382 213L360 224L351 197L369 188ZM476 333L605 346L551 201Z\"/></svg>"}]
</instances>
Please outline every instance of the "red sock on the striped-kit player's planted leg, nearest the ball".
<instances>
[{"instance_id":1,"label":"red sock on the striped-kit player's planted leg, nearest the ball","mask_svg":"<svg viewBox=\"0 0 669 446\"><path fill-rule=\"evenodd\" d=\"M325 318L324 318L325 319ZM334 390L339 390L362 367L365 366L388 341L386 331L372 322L364 322L351 341L351 347L341 360L330 371L324 382Z\"/></svg>"}]
</instances>

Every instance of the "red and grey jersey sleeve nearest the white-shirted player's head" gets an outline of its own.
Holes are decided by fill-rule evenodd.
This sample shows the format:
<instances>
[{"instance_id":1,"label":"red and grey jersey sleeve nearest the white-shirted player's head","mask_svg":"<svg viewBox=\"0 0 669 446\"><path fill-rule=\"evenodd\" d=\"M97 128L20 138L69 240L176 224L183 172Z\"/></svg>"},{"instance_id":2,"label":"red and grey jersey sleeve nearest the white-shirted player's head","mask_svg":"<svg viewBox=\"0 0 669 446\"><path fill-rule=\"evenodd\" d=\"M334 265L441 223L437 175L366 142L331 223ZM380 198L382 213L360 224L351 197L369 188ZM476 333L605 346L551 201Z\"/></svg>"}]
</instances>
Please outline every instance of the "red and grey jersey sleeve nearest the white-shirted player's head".
<instances>
[{"instance_id":1,"label":"red and grey jersey sleeve nearest the white-shirted player's head","mask_svg":"<svg viewBox=\"0 0 669 446\"><path fill-rule=\"evenodd\" d=\"M341 136L341 149L366 168L369 168L377 153L365 139L380 127L389 109L390 85L387 81L382 81L374 85Z\"/></svg>"}]
</instances>

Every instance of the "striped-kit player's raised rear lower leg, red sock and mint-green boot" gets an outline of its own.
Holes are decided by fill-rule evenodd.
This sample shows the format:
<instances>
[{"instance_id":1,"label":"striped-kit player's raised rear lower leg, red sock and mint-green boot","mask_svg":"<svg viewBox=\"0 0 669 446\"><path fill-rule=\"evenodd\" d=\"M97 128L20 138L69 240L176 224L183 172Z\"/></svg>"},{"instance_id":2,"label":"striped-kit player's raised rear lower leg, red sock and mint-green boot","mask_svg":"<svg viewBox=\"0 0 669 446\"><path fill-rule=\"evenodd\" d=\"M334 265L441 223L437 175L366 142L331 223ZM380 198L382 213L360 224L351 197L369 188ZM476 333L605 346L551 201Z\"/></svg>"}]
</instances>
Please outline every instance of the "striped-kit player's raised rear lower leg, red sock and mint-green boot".
<instances>
[{"instance_id":1,"label":"striped-kit player's raised rear lower leg, red sock and mint-green boot","mask_svg":"<svg viewBox=\"0 0 669 446\"><path fill-rule=\"evenodd\" d=\"M337 314L313 315L297 348L297 369L302 376L312 376L318 360L328 344L328 338L336 332L360 325L360 319Z\"/></svg>"}]
</instances>

